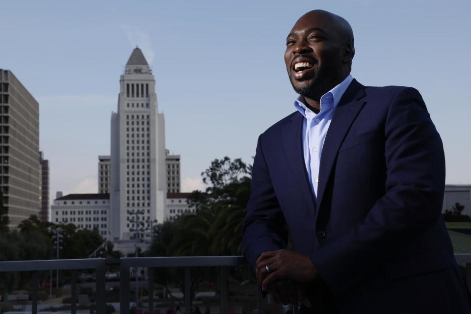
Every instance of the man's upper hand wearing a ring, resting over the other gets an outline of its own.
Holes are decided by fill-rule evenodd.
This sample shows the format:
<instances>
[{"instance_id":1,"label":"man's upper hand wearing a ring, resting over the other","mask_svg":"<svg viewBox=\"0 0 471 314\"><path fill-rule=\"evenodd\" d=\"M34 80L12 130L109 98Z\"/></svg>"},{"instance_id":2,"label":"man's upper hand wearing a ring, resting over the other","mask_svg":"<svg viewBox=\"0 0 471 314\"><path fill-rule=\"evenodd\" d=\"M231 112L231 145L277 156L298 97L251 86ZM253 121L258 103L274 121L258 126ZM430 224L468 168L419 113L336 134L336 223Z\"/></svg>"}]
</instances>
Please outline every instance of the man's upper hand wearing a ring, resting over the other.
<instances>
[{"instance_id":1,"label":"man's upper hand wearing a ring, resting over the other","mask_svg":"<svg viewBox=\"0 0 471 314\"><path fill-rule=\"evenodd\" d=\"M270 272L266 270L266 265ZM285 249L263 252L257 259L256 268L262 290L266 290L268 285L281 279L310 282L317 277L317 269L307 255Z\"/></svg>"}]
</instances>

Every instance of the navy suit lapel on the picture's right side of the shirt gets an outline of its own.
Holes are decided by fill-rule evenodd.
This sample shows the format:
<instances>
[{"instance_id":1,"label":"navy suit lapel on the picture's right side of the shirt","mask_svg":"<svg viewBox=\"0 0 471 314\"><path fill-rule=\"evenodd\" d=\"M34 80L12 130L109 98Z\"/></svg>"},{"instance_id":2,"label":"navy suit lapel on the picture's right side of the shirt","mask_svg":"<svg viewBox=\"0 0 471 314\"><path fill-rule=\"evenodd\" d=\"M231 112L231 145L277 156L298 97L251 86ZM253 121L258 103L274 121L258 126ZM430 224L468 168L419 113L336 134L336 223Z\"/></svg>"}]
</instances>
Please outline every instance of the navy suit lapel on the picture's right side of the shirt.
<instances>
[{"instance_id":1,"label":"navy suit lapel on the picture's right side of the shirt","mask_svg":"<svg viewBox=\"0 0 471 314\"><path fill-rule=\"evenodd\" d=\"M339 105L335 109L334 116L329 126L329 131L325 137L324 146L322 148L322 156L320 157L319 166L319 184L317 186L317 212L322 202L327 181L329 180L332 166L337 158L340 144L353 121L357 117L360 110L365 105L362 98L365 96L365 86L354 79L340 99Z\"/></svg>"}]
</instances>

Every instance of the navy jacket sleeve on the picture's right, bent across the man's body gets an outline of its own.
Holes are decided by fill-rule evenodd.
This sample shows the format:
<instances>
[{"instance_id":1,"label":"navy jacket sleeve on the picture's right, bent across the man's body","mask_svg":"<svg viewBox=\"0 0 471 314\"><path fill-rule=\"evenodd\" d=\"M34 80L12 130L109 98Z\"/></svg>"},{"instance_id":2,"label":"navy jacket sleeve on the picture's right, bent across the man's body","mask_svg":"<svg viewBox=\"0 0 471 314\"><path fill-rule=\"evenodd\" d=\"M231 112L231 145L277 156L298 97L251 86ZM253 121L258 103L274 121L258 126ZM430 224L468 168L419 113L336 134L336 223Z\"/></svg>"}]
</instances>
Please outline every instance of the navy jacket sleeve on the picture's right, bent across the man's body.
<instances>
[{"instance_id":1,"label":"navy jacket sleeve on the picture's right, bent across the man's body","mask_svg":"<svg viewBox=\"0 0 471 314\"><path fill-rule=\"evenodd\" d=\"M385 118L385 161L384 196L361 223L311 255L334 295L393 259L441 215L443 144L416 89L404 87L392 97Z\"/></svg>"}]
</instances>

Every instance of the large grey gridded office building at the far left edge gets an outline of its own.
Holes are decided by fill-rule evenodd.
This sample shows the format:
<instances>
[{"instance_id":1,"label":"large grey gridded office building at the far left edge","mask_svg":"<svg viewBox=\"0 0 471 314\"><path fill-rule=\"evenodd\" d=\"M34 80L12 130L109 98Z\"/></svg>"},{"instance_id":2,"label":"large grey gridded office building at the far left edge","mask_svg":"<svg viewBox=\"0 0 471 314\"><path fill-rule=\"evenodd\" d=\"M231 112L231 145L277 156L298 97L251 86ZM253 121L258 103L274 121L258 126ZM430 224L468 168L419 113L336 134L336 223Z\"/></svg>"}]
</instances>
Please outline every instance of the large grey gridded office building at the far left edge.
<instances>
[{"instance_id":1,"label":"large grey gridded office building at the far left edge","mask_svg":"<svg viewBox=\"0 0 471 314\"><path fill-rule=\"evenodd\" d=\"M39 104L0 69L0 189L10 228L40 213Z\"/></svg>"}]
</instances>

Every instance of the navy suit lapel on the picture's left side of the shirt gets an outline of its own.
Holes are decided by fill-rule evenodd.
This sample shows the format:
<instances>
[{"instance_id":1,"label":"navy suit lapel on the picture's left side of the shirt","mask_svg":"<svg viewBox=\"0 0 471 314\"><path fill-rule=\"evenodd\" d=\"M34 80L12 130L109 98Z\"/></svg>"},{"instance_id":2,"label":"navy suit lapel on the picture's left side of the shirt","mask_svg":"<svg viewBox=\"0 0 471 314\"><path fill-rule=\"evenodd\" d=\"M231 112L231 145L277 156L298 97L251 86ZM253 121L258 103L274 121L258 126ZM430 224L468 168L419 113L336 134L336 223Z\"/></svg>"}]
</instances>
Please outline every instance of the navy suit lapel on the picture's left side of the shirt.
<instances>
[{"instance_id":1,"label":"navy suit lapel on the picture's left side of the shirt","mask_svg":"<svg viewBox=\"0 0 471 314\"><path fill-rule=\"evenodd\" d=\"M283 147L288 160L287 164L291 168L301 194L304 195L309 208L315 210L314 196L304 162L303 119L301 113L296 113L291 121L283 127Z\"/></svg>"}]
</instances>

